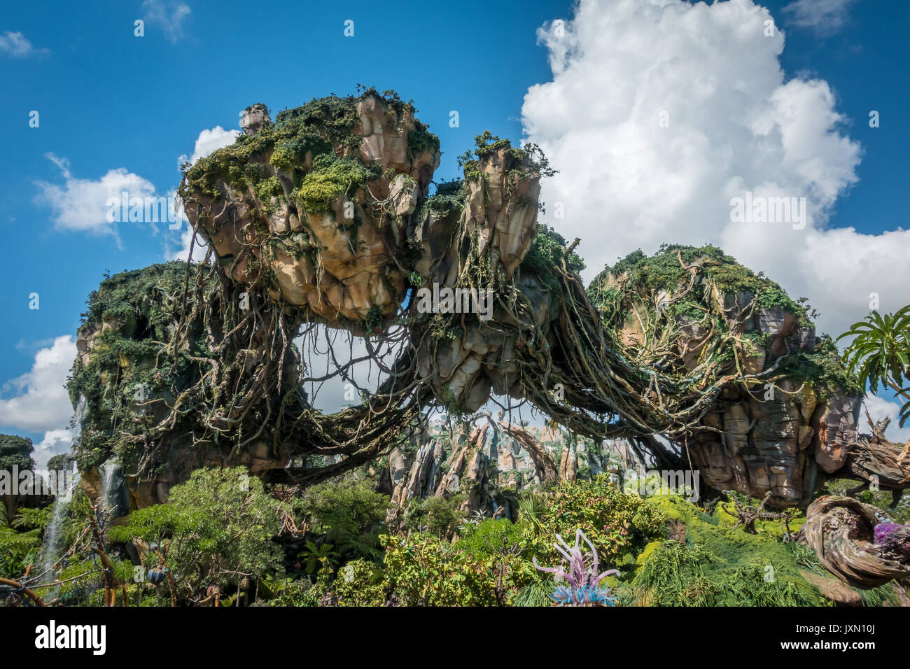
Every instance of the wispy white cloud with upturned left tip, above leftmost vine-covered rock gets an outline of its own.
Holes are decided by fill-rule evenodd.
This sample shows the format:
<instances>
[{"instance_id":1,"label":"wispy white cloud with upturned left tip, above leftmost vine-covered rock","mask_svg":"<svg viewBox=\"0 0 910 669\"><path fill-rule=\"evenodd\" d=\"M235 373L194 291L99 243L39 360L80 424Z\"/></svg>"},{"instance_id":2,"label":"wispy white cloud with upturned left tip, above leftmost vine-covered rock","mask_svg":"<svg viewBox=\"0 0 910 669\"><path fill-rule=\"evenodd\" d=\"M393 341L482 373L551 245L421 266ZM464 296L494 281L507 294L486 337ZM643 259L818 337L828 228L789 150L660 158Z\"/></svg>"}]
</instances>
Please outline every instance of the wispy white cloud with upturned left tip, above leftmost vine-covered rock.
<instances>
[{"instance_id":1,"label":"wispy white cloud with upturned left tip, above leftmost vine-covered rock","mask_svg":"<svg viewBox=\"0 0 910 669\"><path fill-rule=\"evenodd\" d=\"M53 153L46 154L46 157L60 169L64 183L60 186L36 181L38 195L35 196L35 203L52 209L58 229L116 235L114 223L107 220L107 199L119 199L124 191L129 198L151 198L155 195L155 185L151 181L127 172L126 167L108 170L106 175L96 180L80 179L70 172L66 158Z\"/></svg>"}]
</instances>

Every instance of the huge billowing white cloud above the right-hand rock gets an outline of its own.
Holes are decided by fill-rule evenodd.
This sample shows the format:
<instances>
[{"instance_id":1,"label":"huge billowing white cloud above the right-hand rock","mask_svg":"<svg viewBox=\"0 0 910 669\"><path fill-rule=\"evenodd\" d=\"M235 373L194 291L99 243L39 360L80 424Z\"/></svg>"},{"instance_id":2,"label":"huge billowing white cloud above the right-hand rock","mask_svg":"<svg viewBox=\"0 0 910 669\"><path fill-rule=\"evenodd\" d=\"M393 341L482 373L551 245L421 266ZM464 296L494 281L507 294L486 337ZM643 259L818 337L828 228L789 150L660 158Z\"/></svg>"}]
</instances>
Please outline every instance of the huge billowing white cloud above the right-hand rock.
<instances>
[{"instance_id":1,"label":"huge billowing white cloud above the right-hand rock","mask_svg":"<svg viewBox=\"0 0 910 669\"><path fill-rule=\"evenodd\" d=\"M713 243L808 297L820 329L838 334L871 292L884 310L910 302L888 270L910 256L910 232L826 228L862 147L824 80L785 80L769 20L752 0L581 0L564 35L539 31L553 79L528 90L522 122L560 170L541 198L550 215L561 202L550 222L581 237L586 279L635 248ZM806 198L808 223L734 223L744 191Z\"/></svg>"}]
</instances>

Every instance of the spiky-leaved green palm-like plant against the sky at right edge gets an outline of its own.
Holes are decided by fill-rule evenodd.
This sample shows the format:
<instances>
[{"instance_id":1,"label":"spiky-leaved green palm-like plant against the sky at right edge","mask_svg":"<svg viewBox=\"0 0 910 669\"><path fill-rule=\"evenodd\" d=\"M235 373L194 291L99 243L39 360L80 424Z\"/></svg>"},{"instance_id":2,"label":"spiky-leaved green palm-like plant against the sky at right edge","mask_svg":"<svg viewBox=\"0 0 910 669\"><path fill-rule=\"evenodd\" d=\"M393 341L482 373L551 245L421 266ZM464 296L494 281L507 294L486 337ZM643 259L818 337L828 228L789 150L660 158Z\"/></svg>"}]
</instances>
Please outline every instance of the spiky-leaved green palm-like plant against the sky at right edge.
<instances>
[{"instance_id":1,"label":"spiky-leaved green palm-like plant against the sky at right edge","mask_svg":"<svg viewBox=\"0 0 910 669\"><path fill-rule=\"evenodd\" d=\"M844 365L859 377L860 384L869 384L873 392L884 385L905 400L900 413L900 424L910 419L910 305L893 314L882 316L873 311L865 319L854 323L838 341L854 337L844 350Z\"/></svg>"}]
</instances>

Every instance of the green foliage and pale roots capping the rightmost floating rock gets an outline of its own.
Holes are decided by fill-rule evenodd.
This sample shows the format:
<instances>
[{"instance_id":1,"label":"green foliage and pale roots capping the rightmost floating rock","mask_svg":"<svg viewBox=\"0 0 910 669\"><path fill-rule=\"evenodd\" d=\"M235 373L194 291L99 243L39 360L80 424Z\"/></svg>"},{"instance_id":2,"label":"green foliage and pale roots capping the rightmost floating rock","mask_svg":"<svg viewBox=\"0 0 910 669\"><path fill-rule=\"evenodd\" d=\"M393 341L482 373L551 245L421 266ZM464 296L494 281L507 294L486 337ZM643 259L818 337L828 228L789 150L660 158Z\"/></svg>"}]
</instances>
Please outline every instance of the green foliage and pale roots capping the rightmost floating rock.
<instances>
[{"instance_id":1,"label":"green foliage and pale roots capping the rightmost floating rock","mask_svg":"<svg viewBox=\"0 0 910 669\"><path fill-rule=\"evenodd\" d=\"M742 388L746 370L757 362L763 368L753 373L777 365L797 385L811 386L820 399L834 392L861 392L829 337L816 338L812 349L803 347L803 335L817 316L807 300L791 299L762 272L743 267L720 248L665 244L651 257L637 250L604 269L587 292L601 310L613 348L639 369L658 364L688 387L729 383L728 375L733 375ZM732 309L734 304L738 309ZM755 327L765 309L780 309L796 320L782 360L774 357L779 353L765 355L772 336ZM685 360L681 350L693 357Z\"/></svg>"}]
</instances>

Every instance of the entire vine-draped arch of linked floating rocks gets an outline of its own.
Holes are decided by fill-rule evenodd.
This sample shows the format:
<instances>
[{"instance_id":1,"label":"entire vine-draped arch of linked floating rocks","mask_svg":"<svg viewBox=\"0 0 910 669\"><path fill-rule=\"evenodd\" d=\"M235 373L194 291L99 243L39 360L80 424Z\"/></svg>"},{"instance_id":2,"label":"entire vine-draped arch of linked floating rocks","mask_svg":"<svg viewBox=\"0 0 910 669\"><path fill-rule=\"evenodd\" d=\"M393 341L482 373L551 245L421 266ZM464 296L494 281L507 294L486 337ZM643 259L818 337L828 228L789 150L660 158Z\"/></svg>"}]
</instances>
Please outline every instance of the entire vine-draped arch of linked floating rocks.
<instances>
[{"instance_id":1,"label":"entire vine-draped arch of linked floating rocks","mask_svg":"<svg viewBox=\"0 0 910 669\"><path fill-rule=\"evenodd\" d=\"M663 466L697 467L718 490L770 492L774 506L807 503L824 476L907 486L910 462L895 445L857 435L859 393L794 372L825 358L804 311L763 306L761 281L725 289L721 270L748 272L732 258L672 248L652 261L671 259L663 285L635 283L646 262L585 289L577 241L567 248L538 226L550 167L536 147L481 136L464 180L430 198L439 141L397 96L323 98L274 123L257 105L241 125L238 142L187 169L180 188L214 262L187 263L176 288L131 302L172 321L149 369L172 360L169 370L185 371L141 402L129 397L129 371L108 375L141 419L133 427L103 423L89 401L86 440L104 455L133 454L136 500L166 496L176 462L323 480L389 452L420 430L426 407L470 413L490 393L528 400L586 437L629 438ZM491 318L420 312L411 297L428 286L490 291ZM89 316L76 372L101 364L100 336L124 320ZM313 377L291 342L314 323L396 347L386 380L358 406L322 414L300 390ZM338 461L316 466L311 455Z\"/></svg>"}]
</instances>

